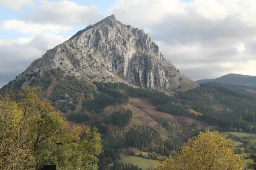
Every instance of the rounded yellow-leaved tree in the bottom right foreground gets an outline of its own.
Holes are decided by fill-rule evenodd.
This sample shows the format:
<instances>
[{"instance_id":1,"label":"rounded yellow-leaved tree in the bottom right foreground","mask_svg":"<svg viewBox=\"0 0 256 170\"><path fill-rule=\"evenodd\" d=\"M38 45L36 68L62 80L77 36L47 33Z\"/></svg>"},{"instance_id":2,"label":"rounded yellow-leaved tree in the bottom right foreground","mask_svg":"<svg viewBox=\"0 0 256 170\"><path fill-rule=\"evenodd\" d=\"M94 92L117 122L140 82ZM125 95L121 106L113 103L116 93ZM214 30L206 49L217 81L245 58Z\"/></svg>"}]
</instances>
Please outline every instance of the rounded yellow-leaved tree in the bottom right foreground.
<instances>
[{"instance_id":1,"label":"rounded yellow-leaved tree in the bottom right foreground","mask_svg":"<svg viewBox=\"0 0 256 170\"><path fill-rule=\"evenodd\" d=\"M218 131L200 132L154 170L242 170L244 160L234 153L226 137Z\"/></svg>"}]
</instances>

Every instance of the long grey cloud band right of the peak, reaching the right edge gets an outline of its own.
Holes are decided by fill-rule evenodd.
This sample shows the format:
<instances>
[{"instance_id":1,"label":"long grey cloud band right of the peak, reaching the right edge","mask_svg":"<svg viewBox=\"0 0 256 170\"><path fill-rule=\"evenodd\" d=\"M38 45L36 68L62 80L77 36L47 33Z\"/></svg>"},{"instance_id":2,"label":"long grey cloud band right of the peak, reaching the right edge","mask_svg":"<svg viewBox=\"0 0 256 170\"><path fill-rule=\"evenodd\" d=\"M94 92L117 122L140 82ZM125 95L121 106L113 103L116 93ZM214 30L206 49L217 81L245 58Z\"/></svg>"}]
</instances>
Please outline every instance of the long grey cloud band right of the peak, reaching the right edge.
<instances>
[{"instance_id":1,"label":"long grey cloud band right of the peak, reaching the right edge","mask_svg":"<svg viewBox=\"0 0 256 170\"><path fill-rule=\"evenodd\" d=\"M197 15L166 15L160 24L152 26L150 33L154 40L170 44L201 42L208 45L216 42L215 45L221 45L218 43L243 40L255 35L256 27L246 26L232 18L212 21Z\"/></svg>"}]
</instances>

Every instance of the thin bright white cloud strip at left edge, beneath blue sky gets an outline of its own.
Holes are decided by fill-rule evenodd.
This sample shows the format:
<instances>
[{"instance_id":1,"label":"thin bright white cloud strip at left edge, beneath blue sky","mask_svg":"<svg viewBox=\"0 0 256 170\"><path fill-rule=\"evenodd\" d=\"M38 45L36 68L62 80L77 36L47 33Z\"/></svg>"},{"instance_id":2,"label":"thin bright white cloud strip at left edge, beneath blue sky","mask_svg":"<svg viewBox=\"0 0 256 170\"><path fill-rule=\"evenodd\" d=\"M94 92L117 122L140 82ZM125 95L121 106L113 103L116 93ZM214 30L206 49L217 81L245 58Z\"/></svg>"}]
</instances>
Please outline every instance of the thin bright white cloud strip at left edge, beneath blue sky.
<instances>
[{"instance_id":1,"label":"thin bright white cloud strip at left edge, beneath blue sky","mask_svg":"<svg viewBox=\"0 0 256 170\"><path fill-rule=\"evenodd\" d=\"M20 33L58 33L60 31L67 31L72 29L71 26L61 26L55 24L37 24L37 23L26 23L21 20L6 20L1 24L2 30L15 30Z\"/></svg>"}]
</instances>

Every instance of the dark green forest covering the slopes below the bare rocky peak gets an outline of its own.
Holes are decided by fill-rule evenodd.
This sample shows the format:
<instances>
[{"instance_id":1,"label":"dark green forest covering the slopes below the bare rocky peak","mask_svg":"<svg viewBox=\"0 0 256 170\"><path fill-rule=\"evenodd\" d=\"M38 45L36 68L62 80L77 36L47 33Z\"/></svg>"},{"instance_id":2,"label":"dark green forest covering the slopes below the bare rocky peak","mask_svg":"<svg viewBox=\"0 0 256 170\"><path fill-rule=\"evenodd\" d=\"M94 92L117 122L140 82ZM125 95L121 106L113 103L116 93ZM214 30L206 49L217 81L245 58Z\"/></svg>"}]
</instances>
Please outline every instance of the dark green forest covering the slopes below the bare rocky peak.
<instances>
[{"instance_id":1,"label":"dark green forest covering the slopes below the bare rocky peak","mask_svg":"<svg viewBox=\"0 0 256 170\"><path fill-rule=\"evenodd\" d=\"M207 122L215 130L256 133L256 89L247 86L209 82L185 92L166 94L124 83L78 80L62 74L60 69L44 71L42 76L31 74L38 79L32 78L29 85L37 87L39 91L49 90L50 85L56 82L51 93L44 97L67 115L70 122L92 122L91 129L96 127L102 134L99 170L110 167L137 170L140 167L121 162L122 154L136 154L131 148L147 152L147 159L159 156L164 160L163 156L175 155L175 150L179 150L188 140L180 136L182 129L177 122L169 119L156 120L161 130L168 134L167 138L148 125L132 125L133 111L122 108L122 105L130 104L131 97L149 99L157 111ZM24 79L30 77L24 75ZM9 87L18 89L21 83L10 82ZM113 105L116 110L105 113L105 108ZM205 128L196 123L192 123L191 128L191 137L201 131L206 132Z\"/></svg>"}]
</instances>

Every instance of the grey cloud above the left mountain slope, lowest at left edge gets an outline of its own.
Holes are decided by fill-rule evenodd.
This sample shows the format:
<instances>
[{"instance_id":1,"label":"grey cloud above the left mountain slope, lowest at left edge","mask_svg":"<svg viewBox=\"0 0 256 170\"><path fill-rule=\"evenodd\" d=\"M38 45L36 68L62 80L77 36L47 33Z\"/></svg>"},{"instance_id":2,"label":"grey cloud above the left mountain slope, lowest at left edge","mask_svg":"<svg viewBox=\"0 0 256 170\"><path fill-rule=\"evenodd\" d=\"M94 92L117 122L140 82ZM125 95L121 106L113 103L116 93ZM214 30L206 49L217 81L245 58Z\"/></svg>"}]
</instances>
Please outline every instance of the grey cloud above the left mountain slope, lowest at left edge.
<instances>
[{"instance_id":1,"label":"grey cloud above the left mountain slope, lowest at left edge","mask_svg":"<svg viewBox=\"0 0 256 170\"><path fill-rule=\"evenodd\" d=\"M0 87L15 79L35 59L65 39L54 34L38 34L34 38L0 40ZM14 69L15 68L15 69Z\"/></svg>"}]
</instances>

